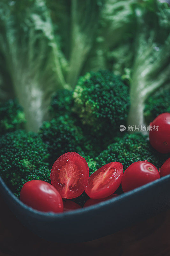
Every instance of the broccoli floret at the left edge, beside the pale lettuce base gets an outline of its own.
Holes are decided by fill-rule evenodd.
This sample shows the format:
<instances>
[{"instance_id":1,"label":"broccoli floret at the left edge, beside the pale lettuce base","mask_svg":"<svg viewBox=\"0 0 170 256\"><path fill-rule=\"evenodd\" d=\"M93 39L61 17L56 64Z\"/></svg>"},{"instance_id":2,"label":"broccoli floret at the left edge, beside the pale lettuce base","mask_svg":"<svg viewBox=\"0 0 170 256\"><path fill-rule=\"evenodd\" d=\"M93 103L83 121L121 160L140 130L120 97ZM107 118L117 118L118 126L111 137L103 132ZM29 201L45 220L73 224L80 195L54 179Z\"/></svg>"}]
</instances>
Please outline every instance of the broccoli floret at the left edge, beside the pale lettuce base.
<instances>
[{"instance_id":1,"label":"broccoli floret at the left edge, beside the pale lettuce base","mask_svg":"<svg viewBox=\"0 0 170 256\"><path fill-rule=\"evenodd\" d=\"M13 132L24 128L26 123L23 108L18 100L7 100L0 104L0 133Z\"/></svg>"}]
</instances>

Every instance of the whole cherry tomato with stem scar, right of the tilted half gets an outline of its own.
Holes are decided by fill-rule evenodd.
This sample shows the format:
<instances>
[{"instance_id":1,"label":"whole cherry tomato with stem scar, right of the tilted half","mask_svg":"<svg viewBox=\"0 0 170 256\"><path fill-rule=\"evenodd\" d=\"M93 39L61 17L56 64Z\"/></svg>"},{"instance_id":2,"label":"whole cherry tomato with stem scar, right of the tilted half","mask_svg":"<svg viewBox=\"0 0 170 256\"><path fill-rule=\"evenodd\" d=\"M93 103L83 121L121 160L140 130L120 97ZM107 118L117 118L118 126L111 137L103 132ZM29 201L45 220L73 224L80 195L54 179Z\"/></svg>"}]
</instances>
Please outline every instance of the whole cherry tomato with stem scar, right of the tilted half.
<instances>
[{"instance_id":1,"label":"whole cherry tomato with stem scar, right of the tilted half","mask_svg":"<svg viewBox=\"0 0 170 256\"><path fill-rule=\"evenodd\" d=\"M147 160L131 164L123 173L122 189L124 192L138 188L160 178L158 169Z\"/></svg>"}]
</instances>

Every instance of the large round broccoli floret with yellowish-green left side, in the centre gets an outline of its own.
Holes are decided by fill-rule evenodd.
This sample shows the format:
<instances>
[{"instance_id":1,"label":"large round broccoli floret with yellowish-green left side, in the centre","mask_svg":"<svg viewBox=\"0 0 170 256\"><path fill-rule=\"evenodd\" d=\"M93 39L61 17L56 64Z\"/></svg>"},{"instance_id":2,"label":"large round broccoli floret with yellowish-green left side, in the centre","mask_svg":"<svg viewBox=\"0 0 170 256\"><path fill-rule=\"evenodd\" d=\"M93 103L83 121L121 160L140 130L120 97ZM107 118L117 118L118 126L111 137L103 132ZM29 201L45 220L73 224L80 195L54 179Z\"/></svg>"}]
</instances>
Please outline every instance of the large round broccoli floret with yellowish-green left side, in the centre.
<instances>
[{"instance_id":1,"label":"large round broccoli floret with yellowish-green left side, in the centre","mask_svg":"<svg viewBox=\"0 0 170 256\"><path fill-rule=\"evenodd\" d=\"M87 73L80 77L73 93L74 111L82 123L92 127L101 135L119 130L128 116L129 88L120 76L110 71Z\"/></svg>"}]
</instances>

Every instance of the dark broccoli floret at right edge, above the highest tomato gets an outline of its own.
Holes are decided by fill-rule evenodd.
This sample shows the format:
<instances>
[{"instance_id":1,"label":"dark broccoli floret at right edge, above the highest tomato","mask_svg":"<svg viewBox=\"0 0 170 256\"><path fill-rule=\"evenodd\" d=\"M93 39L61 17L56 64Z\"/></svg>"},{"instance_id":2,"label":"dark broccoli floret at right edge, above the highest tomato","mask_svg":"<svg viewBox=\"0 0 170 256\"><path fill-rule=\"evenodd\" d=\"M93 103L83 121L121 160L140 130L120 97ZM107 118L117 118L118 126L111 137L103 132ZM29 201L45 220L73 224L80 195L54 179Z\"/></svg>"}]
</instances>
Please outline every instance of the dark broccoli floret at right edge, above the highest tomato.
<instances>
[{"instance_id":1,"label":"dark broccoli floret at right edge, above the highest tomato","mask_svg":"<svg viewBox=\"0 0 170 256\"><path fill-rule=\"evenodd\" d=\"M146 102L144 116L149 124L155 117L161 113L170 112L170 87L160 88Z\"/></svg>"}]
</instances>

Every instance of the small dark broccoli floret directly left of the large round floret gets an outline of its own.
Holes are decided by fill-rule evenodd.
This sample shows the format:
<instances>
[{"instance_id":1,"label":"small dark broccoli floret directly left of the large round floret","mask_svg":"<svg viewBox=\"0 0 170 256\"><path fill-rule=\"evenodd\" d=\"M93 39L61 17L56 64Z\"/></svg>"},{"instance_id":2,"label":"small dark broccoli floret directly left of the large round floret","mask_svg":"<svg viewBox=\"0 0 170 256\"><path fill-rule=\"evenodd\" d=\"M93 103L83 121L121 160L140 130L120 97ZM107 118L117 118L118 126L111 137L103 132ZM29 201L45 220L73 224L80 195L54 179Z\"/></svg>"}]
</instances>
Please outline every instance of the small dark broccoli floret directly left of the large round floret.
<instances>
[{"instance_id":1,"label":"small dark broccoli floret directly left of the large round floret","mask_svg":"<svg viewBox=\"0 0 170 256\"><path fill-rule=\"evenodd\" d=\"M52 117L69 115L73 107L73 91L67 89L58 90L52 97L49 108Z\"/></svg>"}]
</instances>

